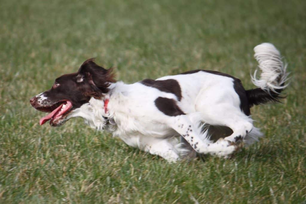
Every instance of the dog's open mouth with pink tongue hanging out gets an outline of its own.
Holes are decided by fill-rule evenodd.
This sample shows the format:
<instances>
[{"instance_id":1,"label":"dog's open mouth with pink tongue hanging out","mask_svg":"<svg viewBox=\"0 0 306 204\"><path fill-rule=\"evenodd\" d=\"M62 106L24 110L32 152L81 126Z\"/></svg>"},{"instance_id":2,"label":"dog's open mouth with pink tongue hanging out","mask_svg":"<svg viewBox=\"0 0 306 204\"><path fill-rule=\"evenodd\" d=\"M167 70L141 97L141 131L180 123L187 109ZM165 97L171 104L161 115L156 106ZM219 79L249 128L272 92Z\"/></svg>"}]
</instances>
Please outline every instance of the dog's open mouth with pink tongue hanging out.
<instances>
[{"instance_id":1,"label":"dog's open mouth with pink tongue hanging out","mask_svg":"<svg viewBox=\"0 0 306 204\"><path fill-rule=\"evenodd\" d=\"M71 111L71 108L72 108L72 103L68 100L58 102L49 107L37 108L38 110L43 112L50 112L47 116L42 117L39 120L39 124L43 125L50 120L50 124L52 125L53 121L57 121L62 116L67 115L67 113Z\"/></svg>"}]
</instances>

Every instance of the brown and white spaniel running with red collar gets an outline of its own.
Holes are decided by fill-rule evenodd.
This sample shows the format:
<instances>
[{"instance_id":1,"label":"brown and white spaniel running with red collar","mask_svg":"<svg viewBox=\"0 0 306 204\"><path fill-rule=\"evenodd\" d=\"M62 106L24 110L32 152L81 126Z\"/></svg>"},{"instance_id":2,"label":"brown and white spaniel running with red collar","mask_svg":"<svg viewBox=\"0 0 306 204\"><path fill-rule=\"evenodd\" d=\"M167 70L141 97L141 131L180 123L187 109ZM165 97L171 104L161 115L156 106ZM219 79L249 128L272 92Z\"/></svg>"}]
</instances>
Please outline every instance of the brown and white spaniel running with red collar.
<instances>
[{"instance_id":1,"label":"brown and white spaniel running with red collar","mask_svg":"<svg viewBox=\"0 0 306 204\"><path fill-rule=\"evenodd\" d=\"M241 80L221 72L193 70L156 80L126 84L113 69L86 60L78 72L57 78L48 91L31 98L31 105L49 112L43 125L60 126L82 117L98 130L112 132L127 145L169 162L211 154L229 158L242 144L263 134L253 126L250 108L280 102L287 85L287 65L271 43L254 48L261 74L245 90Z\"/></svg>"}]
</instances>

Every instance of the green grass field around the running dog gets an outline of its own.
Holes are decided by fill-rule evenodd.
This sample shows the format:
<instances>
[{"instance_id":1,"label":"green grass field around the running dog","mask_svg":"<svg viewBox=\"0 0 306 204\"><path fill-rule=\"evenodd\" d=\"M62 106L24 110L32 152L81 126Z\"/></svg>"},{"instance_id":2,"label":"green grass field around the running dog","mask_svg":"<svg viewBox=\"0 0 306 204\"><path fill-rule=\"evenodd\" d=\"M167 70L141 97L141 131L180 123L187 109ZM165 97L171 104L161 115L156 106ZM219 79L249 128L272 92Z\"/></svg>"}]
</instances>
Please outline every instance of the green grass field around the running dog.
<instances>
[{"instance_id":1,"label":"green grass field around the running dog","mask_svg":"<svg viewBox=\"0 0 306 204\"><path fill-rule=\"evenodd\" d=\"M0 203L305 203L305 1L1 1ZM253 47L289 64L283 104L252 108L260 142L169 164L81 119L39 126L29 99L91 57L117 79L192 69L254 88ZM252 71L250 71L252 70Z\"/></svg>"}]
</instances>

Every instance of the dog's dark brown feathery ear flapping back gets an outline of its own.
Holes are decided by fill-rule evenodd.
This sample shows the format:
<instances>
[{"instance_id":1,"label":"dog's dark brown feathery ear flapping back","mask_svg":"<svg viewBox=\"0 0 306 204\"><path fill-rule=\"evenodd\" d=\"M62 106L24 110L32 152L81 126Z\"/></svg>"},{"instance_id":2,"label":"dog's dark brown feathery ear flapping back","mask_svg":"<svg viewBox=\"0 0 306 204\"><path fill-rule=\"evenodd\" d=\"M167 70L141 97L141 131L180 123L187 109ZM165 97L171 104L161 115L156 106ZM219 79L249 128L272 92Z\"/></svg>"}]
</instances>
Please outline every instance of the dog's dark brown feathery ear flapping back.
<instances>
[{"instance_id":1,"label":"dog's dark brown feathery ear flapping back","mask_svg":"<svg viewBox=\"0 0 306 204\"><path fill-rule=\"evenodd\" d=\"M81 65L78 75L76 76L77 82L83 82L86 78L87 81L102 91L102 93L107 93L109 91L108 87L110 83L116 82L114 79L113 69L104 69L103 67L95 63L95 58L88 59L84 61Z\"/></svg>"}]
</instances>

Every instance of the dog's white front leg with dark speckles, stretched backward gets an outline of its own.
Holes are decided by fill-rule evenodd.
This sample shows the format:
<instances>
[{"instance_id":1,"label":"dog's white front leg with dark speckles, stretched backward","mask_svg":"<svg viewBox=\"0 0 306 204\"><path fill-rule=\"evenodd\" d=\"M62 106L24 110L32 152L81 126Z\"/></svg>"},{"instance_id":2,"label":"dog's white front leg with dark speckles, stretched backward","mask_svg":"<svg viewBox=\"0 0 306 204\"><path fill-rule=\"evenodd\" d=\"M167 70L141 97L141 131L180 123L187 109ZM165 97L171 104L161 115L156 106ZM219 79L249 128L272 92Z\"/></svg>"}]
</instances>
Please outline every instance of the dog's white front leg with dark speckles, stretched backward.
<instances>
[{"instance_id":1,"label":"dog's white front leg with dark speckles, stretched backward","mask_svg":"<svg viewBox=\"0 0 306 204\"><path fill-rule=\"evenodd\" d=\"M193 124L187 115L171 117L169 123L198 153L227 158L238 148L234 143L224 139L213 143L208 135L201 134L201 128Z\"/></svg>"}]
</instances>

